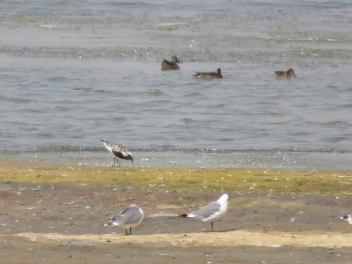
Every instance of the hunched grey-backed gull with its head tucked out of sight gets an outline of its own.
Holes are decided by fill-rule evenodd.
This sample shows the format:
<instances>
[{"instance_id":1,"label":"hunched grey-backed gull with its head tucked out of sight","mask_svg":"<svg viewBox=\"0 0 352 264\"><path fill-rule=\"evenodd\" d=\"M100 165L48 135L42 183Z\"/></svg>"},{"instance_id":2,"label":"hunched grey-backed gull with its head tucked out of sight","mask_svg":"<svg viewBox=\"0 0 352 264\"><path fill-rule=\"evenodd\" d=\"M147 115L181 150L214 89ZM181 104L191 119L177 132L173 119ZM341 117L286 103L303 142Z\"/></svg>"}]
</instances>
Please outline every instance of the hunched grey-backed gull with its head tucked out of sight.
<instances>
[{"instance_id":1,"label":"hunched grey-backed gull with its head tucked out of sight","mask_svg":"<svg viewBox=\"0 0 352 264\"><path fill-rule=\"evenodd\" d=\"M143 216L143 210L133 204L130 207L123 209L119 214L111 216L109 222L105 224L105 226L120 226L125 229L126 235L128 235L127 229L130 228L131 235L132 227L135 227L142 222Z\"/></svg>"}]
</instances>

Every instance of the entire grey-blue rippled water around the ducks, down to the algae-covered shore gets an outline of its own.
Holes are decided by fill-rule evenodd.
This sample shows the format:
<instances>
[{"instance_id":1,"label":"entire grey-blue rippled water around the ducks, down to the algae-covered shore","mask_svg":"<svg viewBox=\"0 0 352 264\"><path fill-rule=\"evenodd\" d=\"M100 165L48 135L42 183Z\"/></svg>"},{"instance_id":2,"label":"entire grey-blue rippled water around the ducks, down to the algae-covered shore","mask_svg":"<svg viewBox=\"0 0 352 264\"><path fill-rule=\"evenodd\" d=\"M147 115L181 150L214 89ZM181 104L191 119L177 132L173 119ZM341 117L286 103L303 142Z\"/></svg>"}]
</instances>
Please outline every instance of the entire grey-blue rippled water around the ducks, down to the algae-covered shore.
<instances>
[{"instance_id":1,"label":"entire grey-blue rippled water around the ducks, down to the algae-covered shore","mask_svg":"<svg viewBox=\"0 0 352 264\"><path fill-rule=\"evenodd\" d=\"M2 156L84 163L84 148L110 164L105 139L143 166L350 168L348 1L0 7ZM162 72L173 55L180 70ZM219 67L222 79L192 76ZM276 80L288 68L298 78Z\"/></svg>"}]
</instances>

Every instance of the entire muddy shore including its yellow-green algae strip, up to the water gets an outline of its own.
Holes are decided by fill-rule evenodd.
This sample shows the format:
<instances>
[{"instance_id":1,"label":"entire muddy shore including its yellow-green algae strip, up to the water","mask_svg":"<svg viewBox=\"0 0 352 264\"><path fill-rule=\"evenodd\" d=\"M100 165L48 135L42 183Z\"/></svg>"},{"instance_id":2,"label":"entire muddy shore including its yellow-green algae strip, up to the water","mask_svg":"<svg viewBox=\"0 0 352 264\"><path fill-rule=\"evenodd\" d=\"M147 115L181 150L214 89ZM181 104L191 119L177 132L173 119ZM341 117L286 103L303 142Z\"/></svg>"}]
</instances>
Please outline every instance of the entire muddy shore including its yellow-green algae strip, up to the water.
<instances>
[{"instance_id":1,"label":"entire muddy shore including its yellow-green algae strip, up to the water","mask_svg":"<svg viewBox=\"0 0 352 264\"><path fill-rule=\"evenodd\" d=\"M0 161L4 263L350 263L351 171ZM210 224L178 218L228 193ZM108 218L135 203L125 236Z\"/></svg>"}]
</instances>

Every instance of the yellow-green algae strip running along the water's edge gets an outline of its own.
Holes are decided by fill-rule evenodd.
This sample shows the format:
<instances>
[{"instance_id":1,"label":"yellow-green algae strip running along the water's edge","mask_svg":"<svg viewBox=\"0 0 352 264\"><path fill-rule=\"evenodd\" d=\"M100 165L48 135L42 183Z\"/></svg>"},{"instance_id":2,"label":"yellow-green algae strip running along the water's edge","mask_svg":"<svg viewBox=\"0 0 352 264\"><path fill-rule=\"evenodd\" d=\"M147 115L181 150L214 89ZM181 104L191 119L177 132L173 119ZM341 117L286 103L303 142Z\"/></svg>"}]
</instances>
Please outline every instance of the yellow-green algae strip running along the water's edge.
<instances>
[{"instance_id":1,"label":"yellow-green algae strip running along the water's edge","mask_svg":"<svg viewBox=\"0 0 352 264\"><path fill-rule=\"evenodd\" d=\"M88 184L160 191L352 194L352 171L69 166L0 161L0 181Z\"/></svg>"}]
</instances>

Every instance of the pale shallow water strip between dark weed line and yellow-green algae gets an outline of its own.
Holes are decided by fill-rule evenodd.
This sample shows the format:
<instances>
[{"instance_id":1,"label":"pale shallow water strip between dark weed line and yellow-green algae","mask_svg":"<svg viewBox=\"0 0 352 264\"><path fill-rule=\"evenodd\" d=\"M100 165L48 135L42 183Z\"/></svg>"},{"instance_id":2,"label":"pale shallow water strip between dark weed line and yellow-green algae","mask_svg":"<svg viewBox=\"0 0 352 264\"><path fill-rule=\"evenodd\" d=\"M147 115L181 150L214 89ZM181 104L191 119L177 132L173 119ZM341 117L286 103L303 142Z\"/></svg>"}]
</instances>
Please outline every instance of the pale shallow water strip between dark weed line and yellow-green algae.
<instances>
[{"instance_id":1,"label":"pale shallow water strip between dark weed line and yellow-green algae","mask_svg":"<svg viewBox=\"0 0 352 264\"><path fill-rule=\"evenodd\" d=\"M86 151L78 148L50 151L9 150L0 154L0 160L23 161L24 163L42 163L70 166L109 167L113 155L106 150ZM97 150L97 151L95 151ZM195 151L195 152L194 152ZM130 161L121 161L124 167L140 168L250 168L282 171L340 171L351 170L350 151L338 150L138 150L133 152L134 165Z\"/></svg>"}]
</instances>

